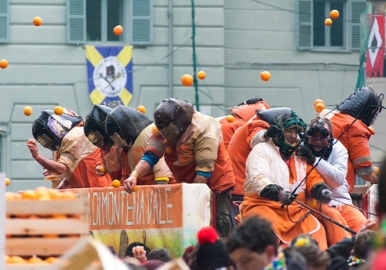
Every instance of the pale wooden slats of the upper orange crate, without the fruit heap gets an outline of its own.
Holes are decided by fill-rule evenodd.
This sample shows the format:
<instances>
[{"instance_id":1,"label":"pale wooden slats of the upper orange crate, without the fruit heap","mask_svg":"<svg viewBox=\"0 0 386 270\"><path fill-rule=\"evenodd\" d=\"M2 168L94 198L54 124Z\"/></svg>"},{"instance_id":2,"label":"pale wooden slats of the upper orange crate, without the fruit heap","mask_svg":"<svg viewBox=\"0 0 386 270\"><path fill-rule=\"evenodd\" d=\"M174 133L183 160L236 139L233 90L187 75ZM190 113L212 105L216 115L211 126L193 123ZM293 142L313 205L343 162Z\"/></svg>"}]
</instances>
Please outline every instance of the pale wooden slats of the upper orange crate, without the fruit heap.
<instances>
[{"instance_id":1,"label":"pale wooden slats of the upper orange crate, without the fruit heap","mask_svg":"<svg viewBox=\"0 0 386 270\"><path fill-rule=\"evenodd\" d=\"M88 235L88 199L7 201L6 254L18 256L59 256ZM18 218L17 215L66 214L68 218ZM60 235L59 238L46 238ZM67 237L71 236L71 237ZM75 237L74 237L75 236ZM9 264L10 265L10 264Z\"/></svg>"}]
</instances>

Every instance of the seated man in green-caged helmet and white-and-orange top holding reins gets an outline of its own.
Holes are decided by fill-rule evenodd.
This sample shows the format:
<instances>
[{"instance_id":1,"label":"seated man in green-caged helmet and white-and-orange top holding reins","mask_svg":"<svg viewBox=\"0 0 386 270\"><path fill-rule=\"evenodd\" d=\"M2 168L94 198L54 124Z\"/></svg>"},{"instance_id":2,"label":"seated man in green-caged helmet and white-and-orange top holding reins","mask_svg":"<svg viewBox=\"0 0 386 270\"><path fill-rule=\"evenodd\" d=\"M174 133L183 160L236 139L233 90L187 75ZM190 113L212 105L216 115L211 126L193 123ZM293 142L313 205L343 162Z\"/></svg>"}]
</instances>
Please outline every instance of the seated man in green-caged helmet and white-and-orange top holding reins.
<instances>
[{"instance_id":1,"label":"seated man in green-caged helmet and white-and-orange top holding reins","mask_svg":"<svg viewBox=\"0 0 386 270\"><path fill-rule=\"evenodd\" d=\"M278 116L273 125L279 128L278 134L253 147L248 155L241 216L260 215L270 220L284 243L302 233L312 234L325 250L327 241L323 226L309 210L293 202L296 198L305 203L312 197L327 203L332 195L319 173L311 170L312 166L303 158L294 155L307 125L293 112Z\"/></svg>"}]
</instances>

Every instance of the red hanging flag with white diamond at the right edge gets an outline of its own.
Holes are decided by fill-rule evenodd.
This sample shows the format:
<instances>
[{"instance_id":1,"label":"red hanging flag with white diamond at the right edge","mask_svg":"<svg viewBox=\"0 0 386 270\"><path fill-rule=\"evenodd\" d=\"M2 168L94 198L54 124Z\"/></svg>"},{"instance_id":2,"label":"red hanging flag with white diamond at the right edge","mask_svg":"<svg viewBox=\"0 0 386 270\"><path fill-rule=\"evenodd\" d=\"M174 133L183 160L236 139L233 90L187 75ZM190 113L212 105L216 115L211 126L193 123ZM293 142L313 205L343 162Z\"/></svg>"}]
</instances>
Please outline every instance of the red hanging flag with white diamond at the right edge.
<instances>
[{"instance_id":1,"label":"red hanging flag with white diamond at the right edge","mask_svg":"<svg viewBox=\"0 0 386 270\"><path fill-rule=\"evenodd\" d=\"M373 15L367 41L366 77L383 77L384 15Z\"/></svg>"}]
</instances>

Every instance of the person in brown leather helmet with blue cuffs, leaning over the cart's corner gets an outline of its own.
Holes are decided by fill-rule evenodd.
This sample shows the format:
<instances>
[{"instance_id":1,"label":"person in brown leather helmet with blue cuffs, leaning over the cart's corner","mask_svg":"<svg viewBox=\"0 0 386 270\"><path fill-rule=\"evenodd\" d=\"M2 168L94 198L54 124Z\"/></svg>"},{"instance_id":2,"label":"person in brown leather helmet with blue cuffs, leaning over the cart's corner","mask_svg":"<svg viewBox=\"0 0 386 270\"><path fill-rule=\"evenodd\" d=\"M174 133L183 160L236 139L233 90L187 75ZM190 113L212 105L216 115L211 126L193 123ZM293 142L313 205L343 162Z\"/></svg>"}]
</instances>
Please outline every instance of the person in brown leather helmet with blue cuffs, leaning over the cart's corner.
<instances>
[{"instance_id":1,"label":"person in brown leather helmet with blue cuffs, leaning over the cart's corner","mask_svg":"<svg viewBox=\"0 0 386 270\"><path fill-rule=\"evenodd\" d=\"M193 104L174 98L163 100L154 112L160 134L153 134L140 162L124 181L133 192L137 178L165 158L177 182L206 184L216 195L216 227L221 237L232 228L229 205L235 184L231 160L215 118L193 109Z\"/></svg>"}]
</instances>

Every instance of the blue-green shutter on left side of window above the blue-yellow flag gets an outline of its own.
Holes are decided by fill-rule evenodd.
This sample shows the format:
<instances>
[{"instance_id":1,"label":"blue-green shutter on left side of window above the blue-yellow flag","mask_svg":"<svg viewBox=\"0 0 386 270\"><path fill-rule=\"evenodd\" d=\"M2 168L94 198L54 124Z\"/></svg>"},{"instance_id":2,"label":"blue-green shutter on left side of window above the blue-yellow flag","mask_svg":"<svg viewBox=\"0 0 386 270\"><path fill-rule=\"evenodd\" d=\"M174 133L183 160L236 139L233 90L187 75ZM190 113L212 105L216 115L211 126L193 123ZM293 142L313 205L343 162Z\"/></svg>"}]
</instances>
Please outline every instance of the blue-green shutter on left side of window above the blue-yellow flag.
<instances>
[{"instance_id":1,"label":"blue-green shutter on left side of window above the blue-yellow flag","mask_svg":"<svg viewBox=\"0 0 386 270\"><path fill-rule=\"evenodd\" d=\"M85 0L67 0L67 41L72 44L85 43Z\"/></svg>"}]
</instances>

